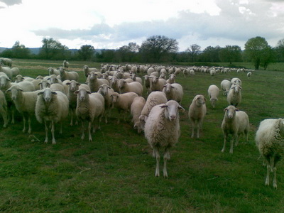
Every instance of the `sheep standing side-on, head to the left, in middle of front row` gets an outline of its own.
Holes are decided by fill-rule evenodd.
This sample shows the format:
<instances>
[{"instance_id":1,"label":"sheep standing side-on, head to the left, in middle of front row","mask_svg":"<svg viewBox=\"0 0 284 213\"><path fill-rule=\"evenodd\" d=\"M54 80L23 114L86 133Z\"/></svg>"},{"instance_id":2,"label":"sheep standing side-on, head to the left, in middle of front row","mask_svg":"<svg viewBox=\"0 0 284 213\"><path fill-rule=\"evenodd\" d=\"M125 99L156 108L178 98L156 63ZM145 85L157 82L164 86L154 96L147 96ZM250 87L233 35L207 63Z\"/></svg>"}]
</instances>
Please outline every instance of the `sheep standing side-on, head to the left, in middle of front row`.
<instances>
[{"instance_id":1,"label":"sheep standing side-on, head to the left, in middle of front row","mask_svg":"<svg viewBox=\"0 0 284 213\"><path fill-rule=\"evenodd\" d=\"M125 114L127 111L130 110L133 99L136 97L138 97L138 94L136 94L135 92L126 92L124 94L119 94L117 92L114 92L113 94L111 94L112 108L116 107L116 109L119 110L119 114L121 114L121 111L123 111L124 121L126 120ZM117 124L119 123L120 123L120 116L117 121Z\"/></svg>"}]
</instances>

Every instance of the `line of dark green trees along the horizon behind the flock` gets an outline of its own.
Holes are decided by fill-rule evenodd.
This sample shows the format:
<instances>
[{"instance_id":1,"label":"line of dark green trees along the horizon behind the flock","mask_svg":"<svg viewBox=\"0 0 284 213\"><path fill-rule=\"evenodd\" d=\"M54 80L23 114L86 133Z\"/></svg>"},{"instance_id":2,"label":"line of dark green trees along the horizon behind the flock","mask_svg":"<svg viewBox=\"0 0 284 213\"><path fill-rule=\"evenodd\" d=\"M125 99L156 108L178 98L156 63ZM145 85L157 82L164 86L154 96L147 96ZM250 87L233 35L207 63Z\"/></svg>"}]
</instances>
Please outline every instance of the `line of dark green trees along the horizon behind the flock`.
<instances>
[{"instance_id":1,"label":"line of dark green trees along the horizon behind the flock","mask_svg":"<svg viewBox=\"0 0 284 213\"><path fill-rule=\"evenodd\" d=\"M164 35L153 35L141 45L129 43L116 50L94 50L92 45L82 45L79 50L70 50L53 38L43 38L38 54L19 41L0 56L5 58L34 58L46 60L84 60L95 62L252 62L256 70L264 70L271 62L284 62L284 39L275 47L268 45L265 38L250 38L241 50L238 45L208 46L201 50L200 45L192 44L185 51L178 52L178 41Z\"/></svg>"}]
</instances>

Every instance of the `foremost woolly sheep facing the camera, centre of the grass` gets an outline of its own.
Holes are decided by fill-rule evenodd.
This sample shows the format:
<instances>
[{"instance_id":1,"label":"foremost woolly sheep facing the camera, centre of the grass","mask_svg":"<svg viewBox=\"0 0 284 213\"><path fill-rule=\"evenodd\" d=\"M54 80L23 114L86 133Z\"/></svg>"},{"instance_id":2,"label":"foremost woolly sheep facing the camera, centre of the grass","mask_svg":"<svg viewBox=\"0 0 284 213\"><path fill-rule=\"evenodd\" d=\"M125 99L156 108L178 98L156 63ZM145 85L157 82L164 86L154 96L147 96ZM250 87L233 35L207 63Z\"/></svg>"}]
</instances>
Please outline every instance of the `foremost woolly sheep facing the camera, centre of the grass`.
<instances>
[{"instance_id":1,"label":"foremost woolly sheep facing the camera, centre of the grass","mask_svg":"<svg viewBox=\"0 0 284 213\"><path fill-rule=\"evenodd\" d=\"M163 176L168 178L167 160L170 160L170 148L180 137L179 110L185 111L178 102L170 100L159 104L151 110L145 124L145 138L153 148L153 158L156 159L155 176L160 176L160 149L164 149Z\"/></svg>"}]
</instances>

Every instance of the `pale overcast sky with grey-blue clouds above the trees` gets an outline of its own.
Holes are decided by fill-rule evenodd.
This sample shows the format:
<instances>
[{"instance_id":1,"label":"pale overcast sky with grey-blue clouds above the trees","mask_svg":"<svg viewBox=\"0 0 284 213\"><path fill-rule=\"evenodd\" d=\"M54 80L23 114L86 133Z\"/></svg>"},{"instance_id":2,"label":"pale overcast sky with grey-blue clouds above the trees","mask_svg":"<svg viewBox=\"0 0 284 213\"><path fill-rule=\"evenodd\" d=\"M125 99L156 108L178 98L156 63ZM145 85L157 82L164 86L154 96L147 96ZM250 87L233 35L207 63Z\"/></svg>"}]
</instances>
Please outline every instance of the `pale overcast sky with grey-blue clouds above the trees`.
<instances>
[{"instance_id":1,"label":"pale overcast sky with grey-blue clouds above the trees","mask_svg":"<svg viewBox=\"0 0 284 213\"><path fill-rule=\"evenodd\" d=\"M184 51L192 44L244 44L284 38L284 0L0 0L0 47L28 48L54 38L68 48L117 49L165 35Z\"/></svg>"}]
</instances>

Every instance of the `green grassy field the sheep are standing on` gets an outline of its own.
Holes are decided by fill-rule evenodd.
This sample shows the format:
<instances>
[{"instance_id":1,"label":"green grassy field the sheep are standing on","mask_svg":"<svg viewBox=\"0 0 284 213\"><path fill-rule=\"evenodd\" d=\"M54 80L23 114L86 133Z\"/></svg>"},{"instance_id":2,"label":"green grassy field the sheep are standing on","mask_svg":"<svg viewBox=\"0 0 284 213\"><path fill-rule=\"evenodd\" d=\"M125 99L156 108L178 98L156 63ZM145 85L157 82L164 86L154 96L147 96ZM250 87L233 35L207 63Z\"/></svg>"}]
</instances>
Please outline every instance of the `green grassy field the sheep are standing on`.
<instances>
[{"instance_id":1,"label":"green grassy field the sheep are standing on","mask_svg":"<svg viewBox=\"0 0 284 213\"><path fill-rule=\"evenodd\" d=\"M16 60L22 75L47 75L47 68L61 61ZM70 70L82 70L84 62L70 62ZM87 63L89 67L99 66ZM278 67L283 65L278 64ZM275 70L275 69L272 69ZM278 70L284 70L284 67ZM231 77L241 78L239 109L249 115L249 142L241 137L234 154L229 146L221 153L221 123L226 98L217 107L207 101L207 115L200 139L190 138L188 107L196 94L207 97L210 84ZM155 178L155 159L143 134L133 130L131 118L116 124L117 112L109 124L93 135L93 142L80 139L80 126L65 122L62 135L55 126L56 145L43 143L44 125L32 121L32 141L21 132L22 119L2 128L0 119L0 211L1 212L283 212L284 166L278 164L278 189L264 185L254 136L260 121L283 117L284 72L230 72L214 77L197 73L178 76L184 98L180 114L181 136L171 151L168 179ZM80 82L84 82L80 72ZM163 162L163 160L161 160Z\"/></svg>"}]
</instances>

